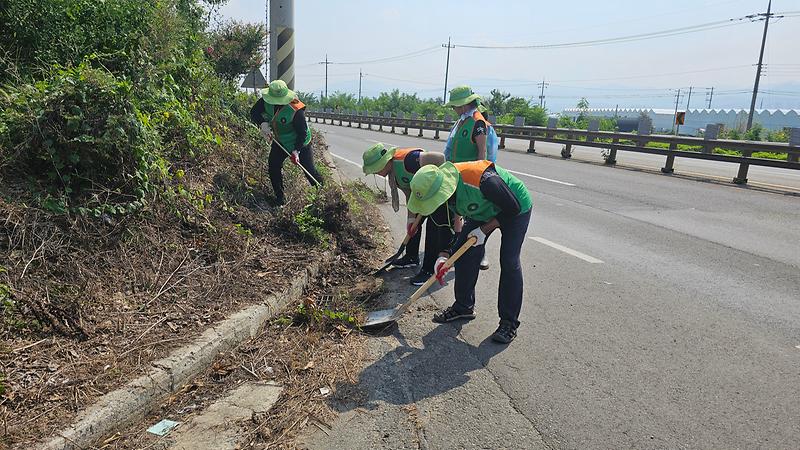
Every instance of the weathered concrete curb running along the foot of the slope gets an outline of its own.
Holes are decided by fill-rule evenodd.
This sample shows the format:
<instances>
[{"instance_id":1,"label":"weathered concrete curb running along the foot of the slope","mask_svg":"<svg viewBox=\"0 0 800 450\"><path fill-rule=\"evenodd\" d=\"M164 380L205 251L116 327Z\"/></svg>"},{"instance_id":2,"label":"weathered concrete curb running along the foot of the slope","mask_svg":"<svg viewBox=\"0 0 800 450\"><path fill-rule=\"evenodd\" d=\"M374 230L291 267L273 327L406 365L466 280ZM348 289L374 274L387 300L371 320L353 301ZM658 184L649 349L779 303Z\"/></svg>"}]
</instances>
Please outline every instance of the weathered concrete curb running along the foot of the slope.
<instances>
[{"instance_id":1,"label":"weathered concrete curb running along the foot of the slope","mask_svg":"<svg viewBox=\"0 0 800 450\"><path fill-rule=\"evenodd\" d=\"M292 284L270 295L262 304L249 306L219 322L188 344L151 363L153 369L124 387L102 396L81 412L59 436L39 446L42 450L76 450L91 447L120 428L139 422L192 378L204 372L214 358L247 339L293 299L302 295L322 266L333 259L326 251L298 274Z\"/></svg>"}]
</instances>

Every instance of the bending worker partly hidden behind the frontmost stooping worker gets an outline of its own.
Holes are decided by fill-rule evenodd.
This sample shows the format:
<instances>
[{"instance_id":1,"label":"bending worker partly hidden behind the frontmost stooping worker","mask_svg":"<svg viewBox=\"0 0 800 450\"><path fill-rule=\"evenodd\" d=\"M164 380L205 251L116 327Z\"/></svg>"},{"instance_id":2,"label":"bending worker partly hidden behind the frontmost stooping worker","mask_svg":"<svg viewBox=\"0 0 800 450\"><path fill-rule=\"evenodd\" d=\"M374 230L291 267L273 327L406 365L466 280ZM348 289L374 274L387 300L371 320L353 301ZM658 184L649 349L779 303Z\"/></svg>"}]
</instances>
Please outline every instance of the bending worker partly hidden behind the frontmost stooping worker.
<instances>
[{"instance_id":1,"label":"bending worker partly hidden behind the frontmost stooping worker","mask_svg":"<svg viewBox=\"0 0 800 450\"><path fill-rule=\"evenodd\" d=\"M363 154L364 173L387 177L392 196L392 208L395 212L400 210L399 196L397 190L403 191L408 202L411 194L411 179L414 174L423 166L444 163L444 155L437 152L426 152L421 148L397 148L387 147L382 143L377 143L368 148ZM414 229L413 224L416 214L408 213L406 218L406 231L411 235L411 239L406 245L406 254L395 261L393 265L398 268L414 267L419 264L419 244L422 233ZM438 208L424 217L425 226L425 258L419 272L411 277L410 282L415 286L420 286L433 275L433 264L436 257L452 240L453 217L447 206ZM422 222L420 222L421 226Z\"/></svg>"}]
</instances>

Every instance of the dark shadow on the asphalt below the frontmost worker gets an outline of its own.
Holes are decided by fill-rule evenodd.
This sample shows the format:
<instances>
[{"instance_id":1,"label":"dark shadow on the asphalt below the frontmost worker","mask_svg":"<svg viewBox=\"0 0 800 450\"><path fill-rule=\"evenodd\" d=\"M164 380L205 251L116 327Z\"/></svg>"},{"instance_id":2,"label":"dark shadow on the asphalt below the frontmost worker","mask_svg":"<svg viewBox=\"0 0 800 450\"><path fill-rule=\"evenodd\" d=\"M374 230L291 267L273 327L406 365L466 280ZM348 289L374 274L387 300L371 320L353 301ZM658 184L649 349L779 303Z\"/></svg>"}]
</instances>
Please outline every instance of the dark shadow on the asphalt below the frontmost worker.
<instances>
[{"instance_id":1,"label":"dark shadow on the asphalt below the frontmost worker","mask_svg":"<svg viewBox=\"0 0 800 450\"><path fill-rule=\"evenodd\" d=\"M406 342L398 328L392 335L400 346L366 367L355 384L336 387L331 407L339 412L376 409L379 403L408 405L464 385L470 372L484 369L507 347L488 337L477 347L458 338L463 323L440 325L422 338L422 348Z\"/></svg>"}]
</instances>

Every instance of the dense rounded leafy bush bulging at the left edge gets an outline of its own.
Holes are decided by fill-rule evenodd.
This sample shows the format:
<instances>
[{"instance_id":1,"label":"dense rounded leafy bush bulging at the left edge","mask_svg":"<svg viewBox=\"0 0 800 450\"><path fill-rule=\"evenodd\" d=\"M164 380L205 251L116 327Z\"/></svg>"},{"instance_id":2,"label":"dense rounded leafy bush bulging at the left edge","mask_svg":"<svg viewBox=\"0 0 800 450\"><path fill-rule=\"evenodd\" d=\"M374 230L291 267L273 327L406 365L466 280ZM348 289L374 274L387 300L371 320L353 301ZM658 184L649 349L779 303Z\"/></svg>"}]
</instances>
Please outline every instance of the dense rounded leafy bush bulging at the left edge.
<instances>
[{"instance_id":1,"label":"dense rounded leafy bush bulging at the left edge","mask_svg":"<svg viewBox=\"0 0 800 450\"><path fill-rule=\"evenodd\" d=\"M64 69L46 82L7 88L0 102L3 172L33 181L50 210L134 210L163 169L131 84L104 70Z\"/></svg>"}]
</instances>

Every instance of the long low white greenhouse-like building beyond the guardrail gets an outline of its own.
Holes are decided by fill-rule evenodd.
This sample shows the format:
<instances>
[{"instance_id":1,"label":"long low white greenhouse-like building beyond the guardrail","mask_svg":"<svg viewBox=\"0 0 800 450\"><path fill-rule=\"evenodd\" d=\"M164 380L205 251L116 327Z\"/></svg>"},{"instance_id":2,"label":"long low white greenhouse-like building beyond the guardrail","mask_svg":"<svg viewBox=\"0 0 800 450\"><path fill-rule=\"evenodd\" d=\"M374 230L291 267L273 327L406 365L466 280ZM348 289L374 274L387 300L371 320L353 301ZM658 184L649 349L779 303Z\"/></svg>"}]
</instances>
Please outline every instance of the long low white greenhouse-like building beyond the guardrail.
<instances>
[{"instance_id":1,"label":"long low white greenhouse-like building beyond the guardrail","mask_svg":"<svg viewBox=\"0 0 800 450\"><path fill-rule=\"evenodd\" d=\"M682 111L682 110L679 110ZM579 109L568 108L563 112L569 117L577 117ZM592 117L619 117L623 119L638 119L641 114L646 114L653 123L654 132L667 132L672 130L675 119L674 109L654 108L590 108L585 111ZM681 134L694 135L698 130L705 129L710 123L721 123L726 129L744 130L747 126L747 110L744 109L690 109L686 114L684 125L681 125ZM800 128L800 111L796 109L757 109L753 123L759 123L768 130L782 128Z\"/></svg>"}]
</instances>

